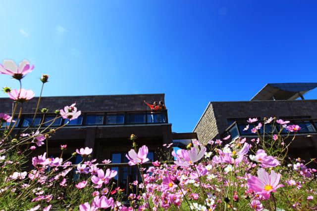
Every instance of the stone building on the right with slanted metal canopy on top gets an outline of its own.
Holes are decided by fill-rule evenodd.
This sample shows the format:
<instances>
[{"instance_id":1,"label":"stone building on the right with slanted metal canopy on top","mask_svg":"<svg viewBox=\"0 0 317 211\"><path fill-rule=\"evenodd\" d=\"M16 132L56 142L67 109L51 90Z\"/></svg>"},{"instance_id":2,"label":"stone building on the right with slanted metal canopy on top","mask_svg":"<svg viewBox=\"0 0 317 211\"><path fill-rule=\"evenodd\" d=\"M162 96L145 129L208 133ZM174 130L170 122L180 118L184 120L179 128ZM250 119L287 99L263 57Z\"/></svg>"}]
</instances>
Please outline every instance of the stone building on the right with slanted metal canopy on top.
<instances>
[{"instance_id":1,"label":"stone building on the right with slanted metal canopy on top","mask_svg":"<svg viewBox=\"0 0 317 211\"><path fill-rule=\"evenodd\" d=\"M305 93L315 87L317 83L266 84L250 101L209 102L193 132L205 144L228 134L231 140L239 136L253 138L256 135L251 132L252 127L243 130L248 118L276 117L302 127L289 154L315 158L317 100L304 99Z\"/></svg>"}]
</instances>

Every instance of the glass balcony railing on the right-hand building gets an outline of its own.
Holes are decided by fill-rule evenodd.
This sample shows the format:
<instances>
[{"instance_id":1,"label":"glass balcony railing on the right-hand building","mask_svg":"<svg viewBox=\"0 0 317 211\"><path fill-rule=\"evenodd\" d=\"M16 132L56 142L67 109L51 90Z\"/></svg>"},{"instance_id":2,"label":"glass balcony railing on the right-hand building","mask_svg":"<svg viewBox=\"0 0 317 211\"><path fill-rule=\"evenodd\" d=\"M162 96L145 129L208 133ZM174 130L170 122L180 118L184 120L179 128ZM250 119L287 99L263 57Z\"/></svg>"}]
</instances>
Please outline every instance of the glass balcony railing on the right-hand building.
<instances>
[{"instance_id":1,"label":"glass balcony railing on the right-hand building","mask_svg":"<svg viewBox=\"0 0 317 211\"><path fill-rule=\"evenodd\" d=\"M317 134L317 119L289 119L289 124L292 125L299 125L301 129L297 132L298 134ZM233 122L227 129L222 133L222 137L225 137L227 135L230 135L230 139L234 140L237 137L252 137L252 136L258 136L257 133L252 133L251 129L253 127L256 127L259 123L262 123L261 129L259 129L259 132L261 134L271 134L271 133L278 133L280 129L282 129L281 135L286 135L289 131L287 131L285 128L283 128L281 125L275 123L273 124L265 124L263 121L258 121L256 123L247 123L246 121L235 121ZM288 124L288 125L289 125ZM244 128L249 125L249 129L244 130Z\"/></svg>"}]
</instances>

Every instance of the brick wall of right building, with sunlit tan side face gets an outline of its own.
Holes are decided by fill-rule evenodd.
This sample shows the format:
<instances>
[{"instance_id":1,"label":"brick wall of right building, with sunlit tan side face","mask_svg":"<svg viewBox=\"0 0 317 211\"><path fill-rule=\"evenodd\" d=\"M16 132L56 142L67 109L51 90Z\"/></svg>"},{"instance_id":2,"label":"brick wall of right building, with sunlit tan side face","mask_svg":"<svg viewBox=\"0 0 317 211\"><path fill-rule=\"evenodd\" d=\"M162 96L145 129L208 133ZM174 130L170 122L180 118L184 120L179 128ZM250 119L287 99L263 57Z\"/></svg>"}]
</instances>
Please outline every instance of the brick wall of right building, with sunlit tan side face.
<instances>
[{"instance_id":1,"label":"brick wall of right building, with sunlit tan side face","mask_svg":"<svg viewBox=\"0 0 317 211\"><path fill-rule=\"evenodd\" d=\"M227 127L227 119L310 116L317 119L317 100L211 102L194 132L204 143Z\"/></svg>"}]
</instances>

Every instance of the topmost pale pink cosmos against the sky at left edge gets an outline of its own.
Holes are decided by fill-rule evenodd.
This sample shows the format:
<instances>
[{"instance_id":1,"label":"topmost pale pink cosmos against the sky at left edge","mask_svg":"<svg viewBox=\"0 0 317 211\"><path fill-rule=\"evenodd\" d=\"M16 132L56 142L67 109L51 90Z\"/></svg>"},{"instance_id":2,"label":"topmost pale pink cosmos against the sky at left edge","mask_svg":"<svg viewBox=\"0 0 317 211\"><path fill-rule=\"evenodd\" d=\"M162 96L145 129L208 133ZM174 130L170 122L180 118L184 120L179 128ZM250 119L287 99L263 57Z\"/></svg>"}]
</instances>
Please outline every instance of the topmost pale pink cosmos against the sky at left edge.
<instances>
[{"instance_id":1,"label":"topmost pale pink cosmos against the sky at left edge","mask_svg":"<svg viewBox=\"0 0 317 211\"><path fill-rule=\"evenodd\" d=\"M0 64L0 73L12 76L12 78L21 80L26 74L32 72L34 65L30 66L28 60L20 62L19 67L12 60L4 60L3 65Z\"/></svg>"}]
</instances>

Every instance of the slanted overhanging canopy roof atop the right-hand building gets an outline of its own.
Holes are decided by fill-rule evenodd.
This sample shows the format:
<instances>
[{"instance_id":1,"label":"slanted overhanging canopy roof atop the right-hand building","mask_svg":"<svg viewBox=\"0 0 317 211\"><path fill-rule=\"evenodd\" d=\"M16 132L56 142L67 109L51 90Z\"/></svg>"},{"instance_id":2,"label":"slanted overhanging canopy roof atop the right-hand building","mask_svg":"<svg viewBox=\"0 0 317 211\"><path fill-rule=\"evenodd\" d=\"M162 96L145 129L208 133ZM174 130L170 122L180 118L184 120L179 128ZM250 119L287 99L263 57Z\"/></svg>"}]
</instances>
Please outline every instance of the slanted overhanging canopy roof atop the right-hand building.
<instances>
[{"instance_id":1,"label":"slanted overhanging canopy roof atop the right-hand building","mask_svg":"<svg viewBox=\"0 0 317 211\"><path fill-rule=\"evenodd\" d=\"M317 83L265 84L250 101L295 100L316 87Z\"/></svg>"}]
</instances>

